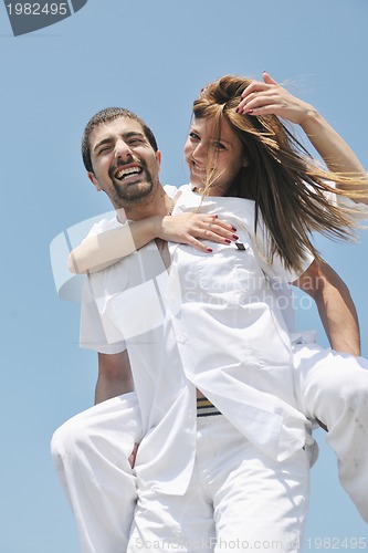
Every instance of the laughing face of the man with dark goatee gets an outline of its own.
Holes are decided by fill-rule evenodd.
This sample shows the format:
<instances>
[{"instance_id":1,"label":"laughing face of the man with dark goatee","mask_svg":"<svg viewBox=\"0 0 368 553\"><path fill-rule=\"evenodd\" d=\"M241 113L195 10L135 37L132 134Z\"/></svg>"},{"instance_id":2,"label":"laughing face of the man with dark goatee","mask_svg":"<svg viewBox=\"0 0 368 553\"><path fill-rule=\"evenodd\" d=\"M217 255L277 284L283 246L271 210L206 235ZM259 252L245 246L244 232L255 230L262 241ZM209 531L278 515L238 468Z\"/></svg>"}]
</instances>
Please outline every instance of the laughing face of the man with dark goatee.
<instances>
[{"instance_id":1,"label":"laughing face of the man with dark goatee","mask_svg":"<svg viewBox=\"0 0 368 553\"><path fill-rule=\"evenodd\" d=\"M88 177L116 209L133 207L159 184L160 153L154 152L137 121L118 117L98 125L90 145L94 173Z\"/></svg>"}]
</instances>

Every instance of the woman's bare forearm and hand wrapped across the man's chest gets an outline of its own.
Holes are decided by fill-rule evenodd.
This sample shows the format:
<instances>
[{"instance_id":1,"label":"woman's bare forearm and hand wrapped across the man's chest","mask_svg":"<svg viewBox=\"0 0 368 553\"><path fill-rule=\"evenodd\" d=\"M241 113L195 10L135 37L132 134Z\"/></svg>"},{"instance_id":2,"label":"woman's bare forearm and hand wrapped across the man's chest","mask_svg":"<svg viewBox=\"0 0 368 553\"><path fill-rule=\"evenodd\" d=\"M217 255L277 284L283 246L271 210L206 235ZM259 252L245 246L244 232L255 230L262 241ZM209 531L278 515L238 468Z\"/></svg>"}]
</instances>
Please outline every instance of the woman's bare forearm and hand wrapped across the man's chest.
<instances>
[{"instance_id":1,"label":"woman's bare forearm and hand wrapped across the man's chest","mask_svg":"<svg viewBox=\"0 0 368 553\"><path fill-rule=\"evenodd\" d=\"M219 243L236 240L235 229L212 215L180 213L153 216L86 238L71 251L67 268L72 273L97 272L119 259L130 255L155 238L192 246L197 250L211 252L199 239Z\"/></svg>"}]
</instances>

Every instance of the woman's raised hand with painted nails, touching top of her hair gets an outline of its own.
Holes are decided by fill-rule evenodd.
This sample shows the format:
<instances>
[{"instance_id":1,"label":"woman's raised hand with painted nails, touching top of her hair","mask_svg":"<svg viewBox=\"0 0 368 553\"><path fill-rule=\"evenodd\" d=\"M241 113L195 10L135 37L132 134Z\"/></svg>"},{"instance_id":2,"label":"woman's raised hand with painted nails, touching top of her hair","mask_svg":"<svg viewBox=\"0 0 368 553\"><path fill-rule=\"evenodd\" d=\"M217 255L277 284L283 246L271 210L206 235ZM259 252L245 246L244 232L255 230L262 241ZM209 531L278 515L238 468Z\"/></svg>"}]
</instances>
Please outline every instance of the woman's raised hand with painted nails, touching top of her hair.
<instances>
[{"instance_id":1,"label":"woman's raised hand with painted nails, touching top of her hair","mask_svg":"<svg viewBox=\"0 0 368 553\"><path fill-rule=\"evenodd\" d=\"M263 72L263 82L254 81L242 94L238 112L249 115L277 115L302 127L316 114L316 109L306 102L293 96Z\"/></svg>"}]
</instances>

